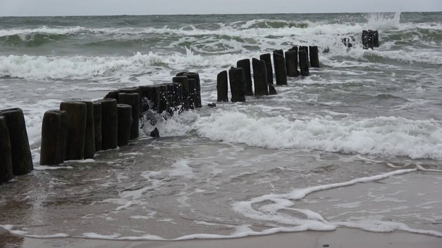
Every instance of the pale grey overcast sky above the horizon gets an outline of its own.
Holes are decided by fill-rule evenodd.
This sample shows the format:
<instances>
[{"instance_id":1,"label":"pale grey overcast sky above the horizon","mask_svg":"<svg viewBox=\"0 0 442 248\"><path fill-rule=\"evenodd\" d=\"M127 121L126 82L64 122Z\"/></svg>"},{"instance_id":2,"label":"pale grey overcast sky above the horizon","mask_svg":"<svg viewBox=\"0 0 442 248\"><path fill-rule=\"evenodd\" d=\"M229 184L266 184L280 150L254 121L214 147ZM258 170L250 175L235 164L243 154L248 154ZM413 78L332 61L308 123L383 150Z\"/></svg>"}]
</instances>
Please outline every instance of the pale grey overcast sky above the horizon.
<instances>
[{"instance_id":1,"label":"pale grey overcast sky above the horizon","mask_svg":"<svg viewBox=\"0 0 442 248\"><path fill-rule=\"evenodd\" d=\"M442 0L0 0L0 16L442 11Z\"/></svg>"}]
</instances>

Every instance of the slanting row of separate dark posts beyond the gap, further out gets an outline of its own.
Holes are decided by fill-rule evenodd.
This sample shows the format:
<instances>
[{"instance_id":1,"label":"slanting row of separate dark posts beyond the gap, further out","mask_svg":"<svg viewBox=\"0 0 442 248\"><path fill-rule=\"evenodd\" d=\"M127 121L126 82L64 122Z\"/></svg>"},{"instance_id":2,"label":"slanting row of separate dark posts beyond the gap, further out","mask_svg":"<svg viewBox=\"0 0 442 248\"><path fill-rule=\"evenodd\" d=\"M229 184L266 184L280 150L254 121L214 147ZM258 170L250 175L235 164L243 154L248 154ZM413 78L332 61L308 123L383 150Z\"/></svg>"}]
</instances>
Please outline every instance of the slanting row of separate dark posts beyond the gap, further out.
<instances>
[{"instance_id":1,"label":"slanting row of separate dark posts beyond the gap, further out","mask_svg":"<svg viewBox=\"0 0 442 248\"><path fill-rule=\"evenodd\" d=\"M285 56L284 56L285 55ZM310 63L309 63L310 57ZM287 85L287 76L309 76L309 66L319 68L318 46L297 46L290 48L287 52L283 50L273 51L273 65L271 54L261 54L260 59L253 58L253 81L254 95L265 96L277 94L273 87L273 69L276 85ZM298 64L299 69L298 70ZM227 71L220 72L217 76L217 101L229 101L229 89ZM253 96L251 66L249 59L242 59L236 63L236 68L229 70L229 81L232 102L244 102L245 96Z\"/></svg>"}]
</instances>

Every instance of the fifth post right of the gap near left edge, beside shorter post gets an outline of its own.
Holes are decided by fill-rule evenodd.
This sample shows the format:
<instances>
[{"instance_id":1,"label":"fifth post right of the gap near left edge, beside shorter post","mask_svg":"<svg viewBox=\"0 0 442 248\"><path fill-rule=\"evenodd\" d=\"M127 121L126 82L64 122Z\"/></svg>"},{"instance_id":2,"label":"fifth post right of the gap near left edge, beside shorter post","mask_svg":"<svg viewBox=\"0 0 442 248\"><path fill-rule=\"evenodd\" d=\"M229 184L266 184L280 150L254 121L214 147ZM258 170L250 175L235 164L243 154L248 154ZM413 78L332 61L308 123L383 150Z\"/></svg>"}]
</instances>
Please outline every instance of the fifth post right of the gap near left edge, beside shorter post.
<instances>
[{"instance_id":1,"label":"fifth post right of the gap near left edge, beside shorter post","mask_svg":"<svg viewBox=\"0 0 442 248\"><path fill-rule=\"evenodd\" d=\"M102 150L115 149L118 145L117 100L102 99Z\"/></svg>"}]
</instances>

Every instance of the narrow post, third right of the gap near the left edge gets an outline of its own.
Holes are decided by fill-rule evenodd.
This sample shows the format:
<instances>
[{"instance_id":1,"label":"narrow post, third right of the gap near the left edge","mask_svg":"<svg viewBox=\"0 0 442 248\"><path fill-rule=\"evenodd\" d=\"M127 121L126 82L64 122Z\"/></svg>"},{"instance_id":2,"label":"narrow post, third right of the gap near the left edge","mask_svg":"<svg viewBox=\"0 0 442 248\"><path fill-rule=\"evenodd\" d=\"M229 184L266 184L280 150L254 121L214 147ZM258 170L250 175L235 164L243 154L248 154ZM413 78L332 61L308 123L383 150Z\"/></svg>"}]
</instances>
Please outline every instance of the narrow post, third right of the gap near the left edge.
<instances>
[{"instance_id":1,"label":"narrow post, third right of the gap near the left edge","mask_svg":"<svg viewBox=\"0 0 442 248\"><path fill-rule=\"evenodd\" d=\"M95 121L94 104L92 101L80 101L86 104L86 134L84 136L84 159L95 155Z\"/></svg>"}]
</instances>

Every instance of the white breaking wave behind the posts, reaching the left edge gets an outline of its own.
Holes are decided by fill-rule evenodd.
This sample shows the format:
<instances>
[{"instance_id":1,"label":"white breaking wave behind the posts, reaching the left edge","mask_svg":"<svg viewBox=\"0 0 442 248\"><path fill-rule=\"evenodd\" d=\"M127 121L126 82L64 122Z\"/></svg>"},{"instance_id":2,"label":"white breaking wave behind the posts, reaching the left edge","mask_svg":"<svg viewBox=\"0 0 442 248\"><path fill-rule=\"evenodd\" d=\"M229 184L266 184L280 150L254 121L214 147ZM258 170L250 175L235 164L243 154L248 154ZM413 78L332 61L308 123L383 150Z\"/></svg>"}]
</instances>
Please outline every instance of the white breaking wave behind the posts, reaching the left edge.
<instances>
[{"instance_id":1,"label":"white breaking wave behind the posts, reaching the left edge","mask_svg":"<svg viewBox=\"0 0 442 248\"><path fill-rule=\"evenodd\" d=\"M202 56L187 50L186 54L137 52L133 56L0 56L0 77L34 80L92 79L119 73L151 72L155 67L184 70L192 67L226 68L243 59L242 54ZM251 54L259 56L259 53Z\"/></svg>"}]
</instances>

